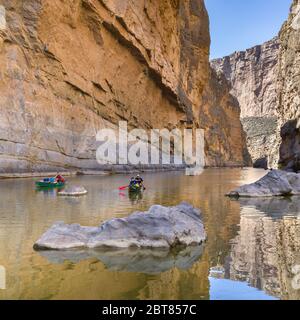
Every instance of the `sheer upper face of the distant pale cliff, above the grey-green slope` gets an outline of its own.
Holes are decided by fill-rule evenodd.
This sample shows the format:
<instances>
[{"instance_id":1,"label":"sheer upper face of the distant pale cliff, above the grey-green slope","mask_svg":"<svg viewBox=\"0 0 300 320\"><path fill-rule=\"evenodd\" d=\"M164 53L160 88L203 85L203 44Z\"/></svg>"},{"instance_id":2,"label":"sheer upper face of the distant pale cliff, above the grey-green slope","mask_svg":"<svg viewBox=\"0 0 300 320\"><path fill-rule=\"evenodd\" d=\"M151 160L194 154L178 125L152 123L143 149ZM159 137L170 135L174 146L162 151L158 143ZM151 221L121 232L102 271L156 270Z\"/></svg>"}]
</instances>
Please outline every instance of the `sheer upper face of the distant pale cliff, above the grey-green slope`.
<instances>
[{"instance_id":1,"label":"sheer upper face of the distant pale cliff, above the grey-green slope","mask_svg":"<svg viewBox=\"0 0 300 320\"><path fill-rule=\"evenodd\" d=\"M246 51L211 61L232 85L241 117L274 116L277 106L276 78L279 41L274 38Z\"/></svg>"}]
</instances>

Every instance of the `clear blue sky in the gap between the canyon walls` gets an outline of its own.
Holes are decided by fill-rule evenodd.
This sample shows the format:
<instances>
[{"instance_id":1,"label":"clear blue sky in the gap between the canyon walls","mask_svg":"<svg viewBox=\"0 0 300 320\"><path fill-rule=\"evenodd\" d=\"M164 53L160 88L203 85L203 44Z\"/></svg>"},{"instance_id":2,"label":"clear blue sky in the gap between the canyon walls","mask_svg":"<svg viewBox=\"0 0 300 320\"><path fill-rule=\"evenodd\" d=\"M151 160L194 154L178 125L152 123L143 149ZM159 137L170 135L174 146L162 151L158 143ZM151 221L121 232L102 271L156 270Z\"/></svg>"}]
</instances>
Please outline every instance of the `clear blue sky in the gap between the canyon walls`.
<instances>
[{"instance_id":1,"label":"clear blue sky in the gap between the canyon walls","mask_svg":"<svg viewBox=\"0 0 300 320\"><path fill-rule=\"evenodd\" d=\"M205 0L205 3L213 59L272 39L287 19L292 0Z\"/></svg>"}]
</instances>

